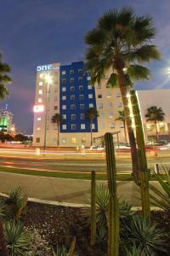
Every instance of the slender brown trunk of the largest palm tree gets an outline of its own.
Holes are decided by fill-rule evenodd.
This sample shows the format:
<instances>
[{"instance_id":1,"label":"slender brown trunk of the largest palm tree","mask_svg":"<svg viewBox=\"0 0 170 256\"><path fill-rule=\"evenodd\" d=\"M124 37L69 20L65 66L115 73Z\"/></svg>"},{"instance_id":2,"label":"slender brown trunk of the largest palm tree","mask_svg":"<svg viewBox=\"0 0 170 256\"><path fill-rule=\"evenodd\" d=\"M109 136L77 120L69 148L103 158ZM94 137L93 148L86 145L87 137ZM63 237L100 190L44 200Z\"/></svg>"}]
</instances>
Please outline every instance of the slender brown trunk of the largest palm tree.
<instances>
[{"instance_id":1,"label":"slender brown trunk of the largest palm tree","mask_svg":"<svg viewBox=\"0 0 170 256\"><path fill-rule=\"evenodd\" d=\"M134 177L134 180L138 183L139 160L138 160L138 152L137 152L137 148L136 148L136 140L135 140L134 132L133 132L133 128L132 128L132 121L130 119L130 111L128 108L127 84L126 84L125 75L122 70L117 70L117 75L118 75L118 84L119 84L119 87L121 90L121 95L122 95L122 104L123 104L124 113L125 113L125 121L127 124L128 138L129 138L129 143L130 143L130 147L131 147L133 177Z\"/></svg>"}]
</instances>

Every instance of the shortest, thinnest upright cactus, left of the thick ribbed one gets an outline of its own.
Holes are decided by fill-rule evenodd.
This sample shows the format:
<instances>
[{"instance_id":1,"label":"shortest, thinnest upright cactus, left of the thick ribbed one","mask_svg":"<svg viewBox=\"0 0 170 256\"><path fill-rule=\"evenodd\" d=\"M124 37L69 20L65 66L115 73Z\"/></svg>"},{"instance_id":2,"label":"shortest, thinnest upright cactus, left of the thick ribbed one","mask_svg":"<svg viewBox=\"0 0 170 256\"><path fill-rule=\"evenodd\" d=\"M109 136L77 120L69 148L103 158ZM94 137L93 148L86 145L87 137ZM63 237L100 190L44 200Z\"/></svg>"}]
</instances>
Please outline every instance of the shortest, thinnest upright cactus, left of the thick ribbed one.
<instances>
[{"instance_id":1,"label":"shortest, thinnest upright cactus, left of the thick ribbed one","mask_svg":"<svg viewBox=\"0 0 170 256\"><path fill-rule=\"evenodd\" d=\"M95 172L91 172L91 237L90 244L94 246L96 237L96 183Z\"/></svg>"}]
</instances>

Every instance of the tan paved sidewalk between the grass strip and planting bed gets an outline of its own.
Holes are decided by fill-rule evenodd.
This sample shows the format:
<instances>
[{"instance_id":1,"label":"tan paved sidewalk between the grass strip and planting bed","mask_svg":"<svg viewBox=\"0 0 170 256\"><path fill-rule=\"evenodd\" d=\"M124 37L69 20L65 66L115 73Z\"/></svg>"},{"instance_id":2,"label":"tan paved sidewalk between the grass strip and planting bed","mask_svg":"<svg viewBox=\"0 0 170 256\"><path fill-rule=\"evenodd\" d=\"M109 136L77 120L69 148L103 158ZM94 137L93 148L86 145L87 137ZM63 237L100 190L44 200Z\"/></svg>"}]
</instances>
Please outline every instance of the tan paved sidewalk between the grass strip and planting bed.
<instances>
[{"instance_id":1,"label":"tan paved sidewalk between the grass strip and planting bed","mask_svg":"<svg viewBox=\"0 0 170 256\"><path fill-rule=\"evenodd\" d=\"M7 193L17 186L24 189L29 197L60 202L82 204L90 194L90 181L86 180L0 172L0 192ZM133 207L139 207L141 204L135 198L139 197L135 187L133 182L118 182L117 192L118 196L126 199Z\"/></svg>"}]
</instances>

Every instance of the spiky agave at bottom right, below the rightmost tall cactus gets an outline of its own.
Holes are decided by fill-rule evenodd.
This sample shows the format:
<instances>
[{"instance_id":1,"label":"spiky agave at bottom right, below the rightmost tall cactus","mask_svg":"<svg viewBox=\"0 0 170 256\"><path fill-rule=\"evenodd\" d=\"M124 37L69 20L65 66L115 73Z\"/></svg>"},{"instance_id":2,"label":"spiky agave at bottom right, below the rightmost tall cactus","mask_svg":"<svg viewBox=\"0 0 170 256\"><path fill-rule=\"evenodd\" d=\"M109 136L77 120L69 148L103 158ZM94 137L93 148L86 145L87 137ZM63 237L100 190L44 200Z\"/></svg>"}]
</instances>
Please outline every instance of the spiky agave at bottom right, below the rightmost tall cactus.
<instances>
[{"instance_id":1,"label":"spiky agave at bottom right, below the rightmost tall cactus","mask_svg":"<svg viewBox=\"0 0 170 256\"><path fill-rule=\"evenodd\" d=\"M156 255L158 251L165 252L165 234L149 218L143 218L139 214L134 215L130 224L126 225L126 232L128 244L135 244L144 255Z\"/></svg>"}]
</instances>

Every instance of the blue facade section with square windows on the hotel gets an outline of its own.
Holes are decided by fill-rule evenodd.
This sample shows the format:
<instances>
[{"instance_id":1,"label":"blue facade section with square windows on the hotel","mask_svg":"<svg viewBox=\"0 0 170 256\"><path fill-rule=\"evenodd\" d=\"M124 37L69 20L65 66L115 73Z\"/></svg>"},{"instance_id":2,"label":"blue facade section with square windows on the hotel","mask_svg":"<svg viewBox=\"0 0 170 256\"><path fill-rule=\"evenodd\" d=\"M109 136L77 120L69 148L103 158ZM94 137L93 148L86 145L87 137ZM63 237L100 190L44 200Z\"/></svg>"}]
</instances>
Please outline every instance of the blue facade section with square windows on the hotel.
<instances>
[{"instance_id":1,"label":"blue facade section with square windows on the hotel","mask_svg":"<svg viewBox=\"0 0 170 256\"><path fill-rule=\"evenodd\" d=\"M90 132L86 112L88 108L96 108L96 100L94 87L88 87L90 81L83 61L60 66L59 79L59 112L65 118L60 124L60 132ZM93 123L93 131L97 132L97 119Z\"/></svg>"}]
</instances>

